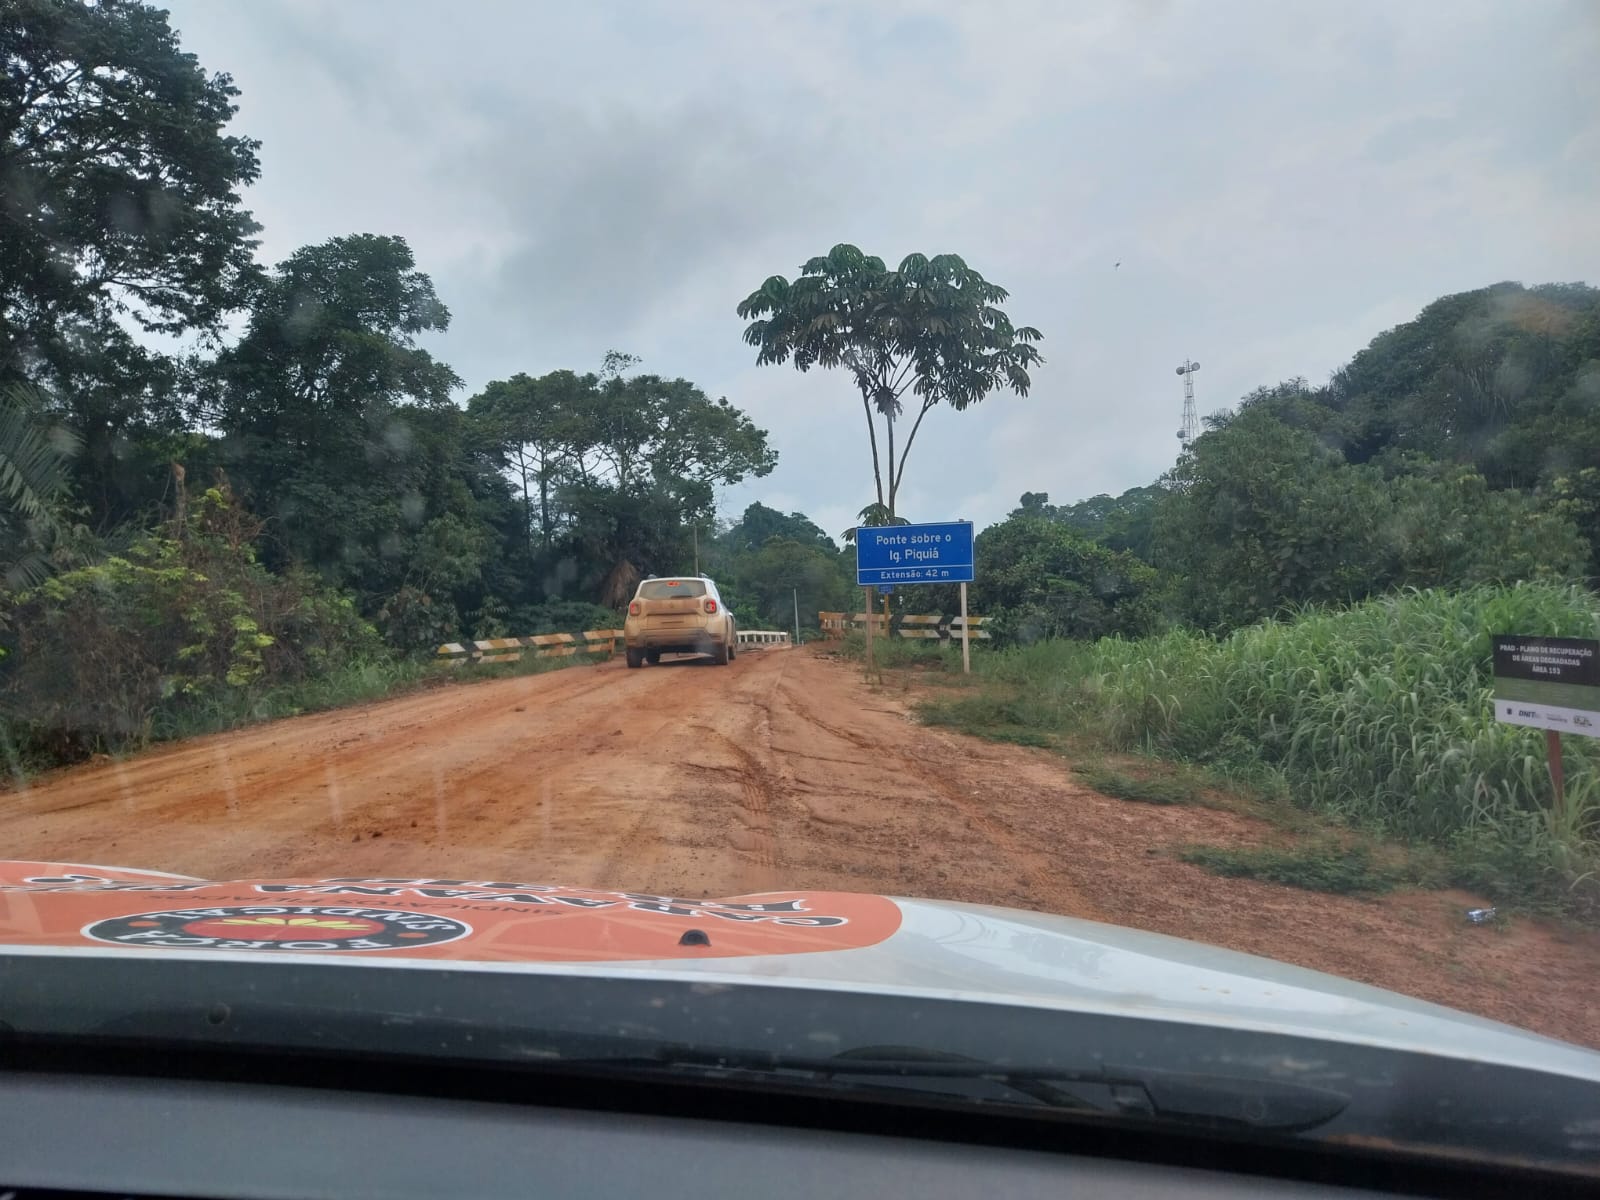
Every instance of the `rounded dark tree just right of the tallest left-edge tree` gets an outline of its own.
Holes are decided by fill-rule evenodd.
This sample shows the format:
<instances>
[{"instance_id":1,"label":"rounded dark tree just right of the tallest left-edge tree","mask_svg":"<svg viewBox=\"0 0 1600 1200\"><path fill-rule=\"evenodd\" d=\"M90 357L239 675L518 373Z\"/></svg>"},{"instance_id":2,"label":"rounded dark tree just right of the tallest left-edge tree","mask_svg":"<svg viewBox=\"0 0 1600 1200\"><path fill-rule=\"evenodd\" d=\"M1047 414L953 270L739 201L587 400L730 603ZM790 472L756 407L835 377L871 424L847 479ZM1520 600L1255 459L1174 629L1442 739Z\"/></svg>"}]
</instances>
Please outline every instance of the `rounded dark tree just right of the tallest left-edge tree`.
<instances>
[{"instance_id":1,"label":"rounded dark tree just right of the tallest left-edge tree","mask_svg":"<svg viewBox=\"0 0 1600 1200\"><path fill-rule=\"evenodd\" d=\"M262 283L198 418L267 520L269 562L306 562L368 610L405 587L480 584L496 541L482 506L494 510L504 485L470 453L454 371L416 344L448 325L398 237L304 246ZM448 600L432 611L451 616Z\"/></svg>"}]
</instances>

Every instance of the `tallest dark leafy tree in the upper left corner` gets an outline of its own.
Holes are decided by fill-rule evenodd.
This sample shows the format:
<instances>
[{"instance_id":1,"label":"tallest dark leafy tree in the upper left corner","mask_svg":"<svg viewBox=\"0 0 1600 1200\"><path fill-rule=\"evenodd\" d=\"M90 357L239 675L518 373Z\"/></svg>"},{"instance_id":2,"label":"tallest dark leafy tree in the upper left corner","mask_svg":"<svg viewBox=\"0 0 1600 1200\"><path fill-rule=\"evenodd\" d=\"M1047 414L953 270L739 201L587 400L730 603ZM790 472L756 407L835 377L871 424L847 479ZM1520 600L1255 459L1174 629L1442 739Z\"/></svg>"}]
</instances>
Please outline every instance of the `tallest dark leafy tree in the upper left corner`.
<instances>
[{"instance_id":1,"label":"tallest dark leafy tree in the upper left corner","mask_svg":"<svg viewBox=\"0 0 1600 1200\"><path fill-rule=\"evenodd\" d=\"M254 274L237 94L138 0L0 5L0 384L59 398L106 518L130 440L176 427L171 363L128 330L214 331Z\"/></svg>"}]
</instances>

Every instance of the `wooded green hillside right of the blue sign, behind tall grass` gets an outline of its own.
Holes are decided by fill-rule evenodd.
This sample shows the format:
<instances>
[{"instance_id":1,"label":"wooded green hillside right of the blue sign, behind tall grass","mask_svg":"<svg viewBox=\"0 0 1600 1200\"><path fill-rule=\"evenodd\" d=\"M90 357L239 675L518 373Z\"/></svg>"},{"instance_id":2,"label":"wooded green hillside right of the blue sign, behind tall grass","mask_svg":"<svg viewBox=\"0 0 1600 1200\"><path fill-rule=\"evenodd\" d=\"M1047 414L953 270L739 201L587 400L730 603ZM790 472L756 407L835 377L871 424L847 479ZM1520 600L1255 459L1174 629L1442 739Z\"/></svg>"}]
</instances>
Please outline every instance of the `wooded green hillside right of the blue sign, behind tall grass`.
<instances>
[{"instance_id":1,"label":"wooded green hillside right of the blue sign, behind tall grass","mask_svg":"<svg viewBox=\"0 0 1600 1200\"><path fill-rule=\"evenodd\" d=\"M1093 600L1134 578L1131 560L1155 568L1139 584L1149 603L1118 622L1128 634L1150 619L1221 634L1403 587L1592 579L1600 291L1498 283L1445 296L1326 384L1261 387L1206 418L1149 486L1067 506L1026 493L981 546L1000 565L1018 541L1042 555L1035 573L1083 589L1096 622ZM1123 557L1090 562L1082 542ZM1078 635L1075 608L1048 592L982 598L1018 629Z\"/></svg>"}]
</instances>

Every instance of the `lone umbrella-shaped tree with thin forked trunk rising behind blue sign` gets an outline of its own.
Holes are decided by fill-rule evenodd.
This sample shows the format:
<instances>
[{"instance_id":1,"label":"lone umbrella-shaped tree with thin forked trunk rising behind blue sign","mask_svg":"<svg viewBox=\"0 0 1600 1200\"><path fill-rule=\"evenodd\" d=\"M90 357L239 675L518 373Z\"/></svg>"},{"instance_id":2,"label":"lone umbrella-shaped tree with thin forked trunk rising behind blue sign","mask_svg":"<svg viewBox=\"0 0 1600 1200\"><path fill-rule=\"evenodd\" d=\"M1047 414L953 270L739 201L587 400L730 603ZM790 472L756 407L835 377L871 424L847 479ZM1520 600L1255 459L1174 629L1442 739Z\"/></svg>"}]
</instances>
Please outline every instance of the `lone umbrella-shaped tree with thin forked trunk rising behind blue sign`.
<instances>
[{"instance_id":1,"label":"lone umbrella-shaped tree with thin forked trunk rising behind blue sign","mask_svg":"<svg viewBox=\"0 0 1600 1200\"><path fill-rule=\"evenodd\" d=\"M792 360L800 371L850 371L867 419L877 502L893 515L930 411L941 403L962 411L998 387L1027 395L1029 368L1043 362L1034 346L1040 333L1011 325L997 307L1006 294L955 254L909 254L890 270L880 258L837 245L792 282L768 278L738 314L749 320L744 341L757 347L758 365ZM915 416L896 454L907 394Z\"/></svg>"}]
</instances>

